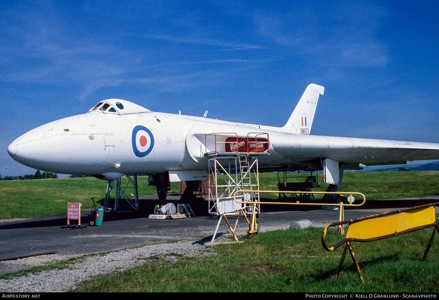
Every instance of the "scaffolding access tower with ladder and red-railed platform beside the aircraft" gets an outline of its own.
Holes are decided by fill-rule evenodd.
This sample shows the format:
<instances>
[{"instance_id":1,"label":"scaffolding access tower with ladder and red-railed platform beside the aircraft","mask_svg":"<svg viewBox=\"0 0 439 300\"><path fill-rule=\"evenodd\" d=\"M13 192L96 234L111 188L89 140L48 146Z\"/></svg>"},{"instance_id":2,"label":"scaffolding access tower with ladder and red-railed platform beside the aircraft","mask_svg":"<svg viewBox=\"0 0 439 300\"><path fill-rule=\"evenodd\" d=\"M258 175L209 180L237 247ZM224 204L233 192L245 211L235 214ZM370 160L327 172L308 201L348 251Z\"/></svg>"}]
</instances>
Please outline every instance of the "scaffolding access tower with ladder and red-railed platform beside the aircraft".
<instances>
[{"instance_id":1,"label":"scaffolding access tower with ladder and red-railed platform beside the aircraft","mask_svg":"<svg viewBox=\"0 0 439 300\"><path fill-rule=\"evenodd\" d=\"M258 157L269 154L268 134L250 132L239 137L236 133L212 133L206 135L205 141L209 174L213 174L209 177L209 214L239 214L241 209L251 214L253 203L259 201L259 193L252 192L259 189ZM237 190L248 191L237 195L245 204L233 200ZM257 205L256 213L259 212Z\"/></svg>"}]
</instances>

